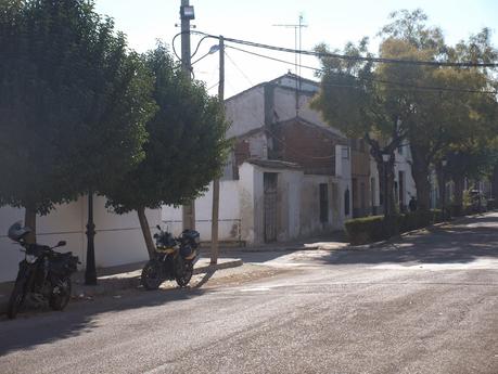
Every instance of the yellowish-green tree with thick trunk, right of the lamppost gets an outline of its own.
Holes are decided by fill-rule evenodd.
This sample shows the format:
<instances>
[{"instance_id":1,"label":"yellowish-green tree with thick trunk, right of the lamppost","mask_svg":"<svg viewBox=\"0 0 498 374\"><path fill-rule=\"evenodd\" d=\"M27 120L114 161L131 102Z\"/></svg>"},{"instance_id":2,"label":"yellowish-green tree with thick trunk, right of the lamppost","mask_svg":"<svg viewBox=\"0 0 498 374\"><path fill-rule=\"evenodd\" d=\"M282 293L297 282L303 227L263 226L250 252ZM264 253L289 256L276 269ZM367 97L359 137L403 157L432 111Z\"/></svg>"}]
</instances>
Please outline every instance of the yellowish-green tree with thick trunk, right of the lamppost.
<instances>
[{"instance_id":1,"label":"yellowish-green tree with thick trunk, right of the lamppost","mask_svg":"<svg viewBox=\"0 0 498 374\"><path fill-rule=\"evenodd\" d=\"M385 38L382 47L390 48L386 55L432 62L493 62L498 54L490 46L488 29L472 36L468 42L461 41L455 48L445 43L438 27L425 24L426 15L421 10L394 12L393 22L382 29ZM409 51L409 54L407 54ZM406 65L401 68L412 69ZM450 144L475 137L489 126L485 120L493 112L489 101L493 96L478 93L489 88L490 76L482 68L456 68L426 66L418 70L408 82L418 87L440 87L438 90L412 90L400 86L400 94L409 96L413 108L411 121L407 124L408 140L412 157L412 176L417 186L417 197L421 209L430 207L430 170L437 157ZM398 80L401 81L401 80ZM407 82L407 80L403 80ZM449 88L449 90L445 90ZM459 91L460 90L460 91ZM470 92L470 91L475 92Z\"/></svg>"}]
</instances>

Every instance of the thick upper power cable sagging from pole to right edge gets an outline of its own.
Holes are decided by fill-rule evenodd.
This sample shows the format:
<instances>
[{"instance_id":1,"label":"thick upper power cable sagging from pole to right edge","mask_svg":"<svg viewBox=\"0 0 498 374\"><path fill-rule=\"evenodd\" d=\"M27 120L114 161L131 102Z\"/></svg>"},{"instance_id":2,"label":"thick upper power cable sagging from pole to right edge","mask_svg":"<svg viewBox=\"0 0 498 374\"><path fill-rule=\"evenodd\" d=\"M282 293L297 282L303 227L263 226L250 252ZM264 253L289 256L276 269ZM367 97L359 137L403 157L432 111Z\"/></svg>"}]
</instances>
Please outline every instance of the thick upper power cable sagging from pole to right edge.
<instances>
[{"instance_id":1,"label":"thick upper power cable sagging from pole to right edge","mask_svg":"<svg viewBox=\"0 0 498 374\"><path fill-rule=\"evenodd\" d=\"M203 35L209 38L219 38L218 36L202 33L202 31L192 31L199 35ZM316 57L333 57L340 60L348 61L365 61L373 63L384 63L384 64L405 64L405 65L426 65L426 66L448 66L448 67L498 67L498 63L473 63L473 62L437 62L437 61L421 61L421 60L399 60L399 59L385 59L385 57L367 57L367 56L354 56L332 52L317 52L317 51L306 51L297 50L284 47L276 47L265 43L258 43L248 40L234 39L234 38L225 38L225 41L233 42L237 44L244 44L248 47L263 48L272 51L288 52L288 53L298 53L305 55L312 55Z\"/></svg>"}]
</instances>

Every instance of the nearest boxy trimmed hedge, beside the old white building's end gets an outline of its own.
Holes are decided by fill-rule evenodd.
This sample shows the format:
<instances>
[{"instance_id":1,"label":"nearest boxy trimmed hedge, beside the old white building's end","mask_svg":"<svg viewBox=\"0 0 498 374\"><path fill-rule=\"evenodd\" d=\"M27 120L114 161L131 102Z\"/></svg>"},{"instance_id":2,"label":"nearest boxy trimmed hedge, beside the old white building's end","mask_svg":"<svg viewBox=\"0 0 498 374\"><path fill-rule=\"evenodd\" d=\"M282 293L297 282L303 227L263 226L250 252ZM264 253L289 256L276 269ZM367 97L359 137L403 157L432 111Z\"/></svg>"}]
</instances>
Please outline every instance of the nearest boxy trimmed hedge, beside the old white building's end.
<instances>
[{"instance_id":1,"label":"nearest boxy trimmed hedge, beside the old white building's end","mask_svg":"<svg viewBox=\"0 0 498 374\"><path fill-rule=\"evenodd\" d=\"M345 223L347 237L353 245L379 242L387 238L384 216L356 218Z\"/></svg>"}]
</instances>

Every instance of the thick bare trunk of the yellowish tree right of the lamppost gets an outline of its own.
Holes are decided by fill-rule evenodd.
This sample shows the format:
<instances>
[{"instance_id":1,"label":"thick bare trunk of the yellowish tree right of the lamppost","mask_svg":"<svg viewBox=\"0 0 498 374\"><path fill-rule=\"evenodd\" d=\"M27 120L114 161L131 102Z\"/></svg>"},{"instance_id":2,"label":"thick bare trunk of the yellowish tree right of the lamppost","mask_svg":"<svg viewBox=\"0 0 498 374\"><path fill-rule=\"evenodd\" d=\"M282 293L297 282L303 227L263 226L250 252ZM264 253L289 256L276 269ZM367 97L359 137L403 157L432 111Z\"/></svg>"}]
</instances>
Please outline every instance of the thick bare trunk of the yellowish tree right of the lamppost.
<instances>
[{"instance_id":1,"label":"thick bare trunk of the yellowish tree right of the lamppost","mask_svg":"<svg viewBox=\"0 0 498 374\"><path fill-rule=\"evenodd\" d=\"M417 207L420 210L429 210L431 208L431 183L429 181L429 163L425 159L425 152L419 150L413 144L410 145L411 151L411 176L417 188Z\"/></svg>"}]
</instances>

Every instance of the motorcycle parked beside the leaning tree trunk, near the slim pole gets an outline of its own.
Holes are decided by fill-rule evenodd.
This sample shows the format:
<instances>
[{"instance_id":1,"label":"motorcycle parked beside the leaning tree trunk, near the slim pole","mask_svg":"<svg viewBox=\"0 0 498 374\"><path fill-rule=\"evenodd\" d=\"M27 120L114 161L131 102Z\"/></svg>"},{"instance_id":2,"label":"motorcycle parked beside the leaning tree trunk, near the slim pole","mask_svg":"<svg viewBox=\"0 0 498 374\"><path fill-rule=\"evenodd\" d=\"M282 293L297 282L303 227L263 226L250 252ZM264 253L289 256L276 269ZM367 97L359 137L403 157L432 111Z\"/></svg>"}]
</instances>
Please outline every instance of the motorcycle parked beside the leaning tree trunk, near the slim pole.
<instances>
[{"instance_id":1,"label":"motorcycle parked beside the leaning tree trunk, near the slim pole","mask_svg":"<svg viewBox=\"0 0 498 374\"><path fill-rule=\"evenodd\" d=\"M195 230L184 230L179 237L163 231L157 225L155 258L143 267L141 283L146 289L157 289L168 280L175 280L180 287L189 284L193 267L199 259L200 235Z\"/></svg>"}]
</instances>

